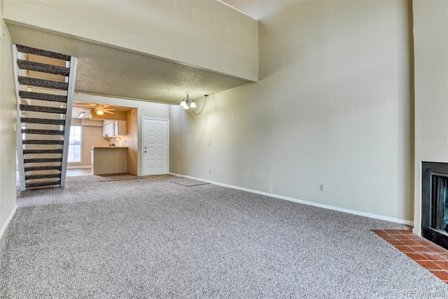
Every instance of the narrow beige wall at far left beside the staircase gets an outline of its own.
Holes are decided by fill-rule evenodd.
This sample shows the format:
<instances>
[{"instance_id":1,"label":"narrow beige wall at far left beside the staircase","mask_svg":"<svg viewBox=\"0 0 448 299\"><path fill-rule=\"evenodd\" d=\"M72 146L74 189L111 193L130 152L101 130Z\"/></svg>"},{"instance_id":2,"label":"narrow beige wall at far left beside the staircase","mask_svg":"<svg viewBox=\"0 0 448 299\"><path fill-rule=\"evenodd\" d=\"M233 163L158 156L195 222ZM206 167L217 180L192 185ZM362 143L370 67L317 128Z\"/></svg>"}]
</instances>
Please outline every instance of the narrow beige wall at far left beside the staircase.
<instances>
[{"instance_id":1,"label":"narrow beige wall at far left beside the staircase","mask_svg":"<svg viewBox=\"0 0 448 299\"><path fill-rule=\"evenodd\" d=\"M3 0L0 1L0 16ZM16 99L13 74L13 45L3 19L0 18L0 237L13 216L15 195Z\"/></svg>"}]
</instances>

